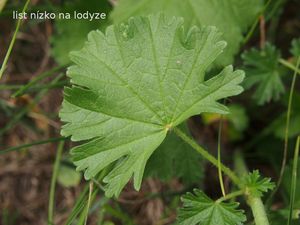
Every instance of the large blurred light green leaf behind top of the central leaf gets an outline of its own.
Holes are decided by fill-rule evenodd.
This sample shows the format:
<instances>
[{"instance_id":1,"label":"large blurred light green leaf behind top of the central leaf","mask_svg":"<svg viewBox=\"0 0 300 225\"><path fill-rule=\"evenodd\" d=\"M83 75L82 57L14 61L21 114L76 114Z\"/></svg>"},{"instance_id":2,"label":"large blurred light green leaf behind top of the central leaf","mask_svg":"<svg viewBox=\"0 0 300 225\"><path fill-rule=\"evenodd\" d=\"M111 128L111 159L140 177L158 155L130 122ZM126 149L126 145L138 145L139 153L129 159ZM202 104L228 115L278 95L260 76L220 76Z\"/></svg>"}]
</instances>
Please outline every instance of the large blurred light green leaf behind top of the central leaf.
<instances>
[{"instance_id":1,"label":"large blurred light green leaf behind top of the central leaf","mask_svg":"<svg viewBox=\"0 0 300 225\"><path fill-rule=\"evenodd\" d=\"M216 26L229 45L216 62L224 66L233 62L243 33L254 23L262 7L262 0L120 0L111 18L119 23L132 16L162 11L168 16L183 17L186 27Z\"/></svg>"}]
</instances>

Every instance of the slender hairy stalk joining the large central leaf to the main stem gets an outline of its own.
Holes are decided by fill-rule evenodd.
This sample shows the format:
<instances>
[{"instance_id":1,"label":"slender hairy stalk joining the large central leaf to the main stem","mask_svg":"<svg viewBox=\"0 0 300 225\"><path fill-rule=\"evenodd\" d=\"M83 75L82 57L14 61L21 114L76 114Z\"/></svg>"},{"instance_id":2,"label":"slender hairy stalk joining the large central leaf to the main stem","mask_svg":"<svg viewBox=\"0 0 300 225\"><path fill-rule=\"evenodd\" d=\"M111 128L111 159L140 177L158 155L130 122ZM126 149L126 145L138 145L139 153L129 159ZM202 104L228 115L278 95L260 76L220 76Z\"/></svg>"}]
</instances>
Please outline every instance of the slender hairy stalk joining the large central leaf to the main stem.
<instances>
[{"instance_id":1,"label":"slender hairy stalk joining the large central leaf to the main stem","mask_svg":"<svg viewBox=\"0 0 300 225\"><path fill-rule=\"evenodd\" d=\"M198 145L197 142L195 142L193 139L191 139L189 136L187 136L183 131L181 131L177 127L174 127L173 131L178 137L180 137L183 141L189 144L193 149L199 152L205 159L211 162L214 166L218 167L218 160L213 155L211 155L208 151L206 151L204 148ZM242 188L242 183L240 179L235 175L235 173L231 169L229 169L222 163L220 163L220 168L233 181L233 183L235 183L238 187Z\"/></svg>"}]
</instances>

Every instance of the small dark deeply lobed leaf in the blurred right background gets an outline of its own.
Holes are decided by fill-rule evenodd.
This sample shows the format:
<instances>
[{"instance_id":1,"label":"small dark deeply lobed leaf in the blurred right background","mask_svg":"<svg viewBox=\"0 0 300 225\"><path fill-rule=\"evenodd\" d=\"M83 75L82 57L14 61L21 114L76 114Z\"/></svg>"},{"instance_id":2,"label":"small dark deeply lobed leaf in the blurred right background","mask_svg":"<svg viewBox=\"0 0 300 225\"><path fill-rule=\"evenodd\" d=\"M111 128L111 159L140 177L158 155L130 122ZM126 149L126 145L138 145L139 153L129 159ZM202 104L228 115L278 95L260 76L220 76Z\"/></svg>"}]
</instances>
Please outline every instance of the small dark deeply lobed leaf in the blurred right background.
<instances>
[{"instance_id":1,"label":"small dark deeply lobed leaf in the blurred right background","mask_svg":"<svg viewBox=\"0 0 300 225\"><path fill-rule=\"evenodd\" d=\"M267 43L263 50L252 48L242 55L246 79L245 88L256 86L253 98L259 105L278 100L284 93L279 63L280 53Z\"/></svg>"}]
</instances>

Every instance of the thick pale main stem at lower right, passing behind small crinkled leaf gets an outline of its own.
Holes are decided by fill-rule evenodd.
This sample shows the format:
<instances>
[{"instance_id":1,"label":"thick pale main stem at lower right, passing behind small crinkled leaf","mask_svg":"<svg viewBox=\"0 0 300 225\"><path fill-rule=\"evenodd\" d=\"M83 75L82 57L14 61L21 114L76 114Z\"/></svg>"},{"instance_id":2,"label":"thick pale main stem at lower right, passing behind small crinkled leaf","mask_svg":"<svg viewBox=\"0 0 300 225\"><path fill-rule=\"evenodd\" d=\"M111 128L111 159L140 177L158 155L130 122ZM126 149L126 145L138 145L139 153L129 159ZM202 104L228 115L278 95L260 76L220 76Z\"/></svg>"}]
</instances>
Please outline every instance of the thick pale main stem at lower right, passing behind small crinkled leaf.
<instances>
[{"instance_id":1,"label":"thick pale main stem at lower right, passing behind small crinkled leaf","mask_svg":"<svg viewBox=\"0 0 300 225\"><path fill-rule=\"evenodd\" d=\"M239 176L245 176L249 173L242 154L239 151L235 152L235 170ZM269 225L269 220L266 214L265 206L260 197L247 195L247 203L252 210L256 225Z\"/></svg>"}]
</instances>

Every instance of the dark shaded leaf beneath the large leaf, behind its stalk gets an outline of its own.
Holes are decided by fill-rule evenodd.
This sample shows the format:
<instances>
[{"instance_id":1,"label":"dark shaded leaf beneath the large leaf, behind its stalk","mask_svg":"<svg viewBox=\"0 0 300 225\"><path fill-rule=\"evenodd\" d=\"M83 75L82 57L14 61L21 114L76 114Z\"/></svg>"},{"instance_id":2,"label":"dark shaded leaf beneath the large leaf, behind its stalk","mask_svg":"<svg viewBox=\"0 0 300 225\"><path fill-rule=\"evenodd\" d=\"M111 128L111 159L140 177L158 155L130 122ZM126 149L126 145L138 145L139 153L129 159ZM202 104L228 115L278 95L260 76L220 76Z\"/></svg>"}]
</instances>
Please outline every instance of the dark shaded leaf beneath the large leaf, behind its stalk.
<instances>
[{"instance_id":1,"label":"dark shaded leaf beneath the large leaf, behind its stalk","mask_svg":"<svg viewBox=\"0 0 300 225\"><path fill-rule=\"evenodd\" d=\"M189 133L187 126L181 126L181 130ZM158 177L163 181L177 177L184 183L191 184L201 180L203 164L202 157L171 132L150 157L145 175Z\"/></svg>"}]
</instances>

